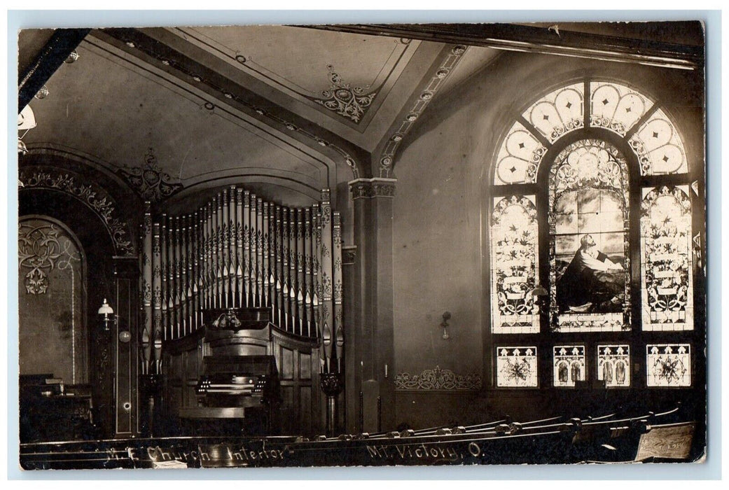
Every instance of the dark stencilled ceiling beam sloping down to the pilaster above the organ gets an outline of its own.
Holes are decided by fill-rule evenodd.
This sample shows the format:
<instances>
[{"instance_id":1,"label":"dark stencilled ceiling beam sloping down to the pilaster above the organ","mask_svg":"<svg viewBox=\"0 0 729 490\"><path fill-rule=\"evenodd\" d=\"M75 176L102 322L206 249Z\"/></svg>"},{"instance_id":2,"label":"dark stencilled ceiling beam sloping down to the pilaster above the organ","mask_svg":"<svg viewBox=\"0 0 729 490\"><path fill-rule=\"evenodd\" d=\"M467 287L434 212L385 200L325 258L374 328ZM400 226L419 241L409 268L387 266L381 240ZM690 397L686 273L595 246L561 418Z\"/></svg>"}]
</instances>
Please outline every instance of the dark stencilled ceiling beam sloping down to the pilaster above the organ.
<instances>
[{"instance_id":1,"label":"dark stencilled ceiling beam sloping down to the pilaster above the organ","mask_svg":"<svg viewBox=\"0 0 729 490\"><path fill-rule=\"evenodd\" d=\"M124 50L138 56L139 53L142 53L143 55L154 59L157 63L159 63L160 69L168 72L170 69L176 70L179 74L182 74L182 76L176 76L179 77L179 79L182 79L185 83L201 90L208 89L206 90L208 93L212 90L215 93L215 97L219 98L220 101L234 101L239 104L239 106L243 106L254 114L257 114L258 117L265 118L262 122L271 128L277 128L279 131L284 133L293 133L293 135L308 140L313 144L332 150L339 158L341 158L343 163L346 163L346 165L351 168L354 178L359 178L359 163L354 158L354 155L341 147L340 144L331 141L331 139L322 138L321 136L301 127L301 125L294 122L297 117L295 117L294 114L290 114L286 111L286 109L278 107L270 101L265 101L265 99L262 99L259 96L254 96L252 93L248 93L240 85L235 84L235 82L224 79L222 75L214 74L205 66L200 65L200 63L193 61L182 53L173 50L171 47L165 46L162 42L153 39L141 31L129 28L104 29L103 31L94 31L94 35L104 42L110 42L109 38L122 42L125 45L123 48ZM226 85L230 85L231 88L223 87L220 85L221 82L229 82L226 83ZM235 87L235 90L233 90L233 87ZM239 93L233 93L234 91ZM245 96L241 95L241 93L244 93ZM260 103L252 102L252 100L257 101L259 99ZM233 106L231 103L227 104ZM222 106L208 100L205 102L204 107L205 109L208 109L208 111L212 111L216 107ZM274 108L274 111L267 109L267 107ZM285 117L281 117L281 115L278 114L284 114Z\"/></svg>"}]
</instances>

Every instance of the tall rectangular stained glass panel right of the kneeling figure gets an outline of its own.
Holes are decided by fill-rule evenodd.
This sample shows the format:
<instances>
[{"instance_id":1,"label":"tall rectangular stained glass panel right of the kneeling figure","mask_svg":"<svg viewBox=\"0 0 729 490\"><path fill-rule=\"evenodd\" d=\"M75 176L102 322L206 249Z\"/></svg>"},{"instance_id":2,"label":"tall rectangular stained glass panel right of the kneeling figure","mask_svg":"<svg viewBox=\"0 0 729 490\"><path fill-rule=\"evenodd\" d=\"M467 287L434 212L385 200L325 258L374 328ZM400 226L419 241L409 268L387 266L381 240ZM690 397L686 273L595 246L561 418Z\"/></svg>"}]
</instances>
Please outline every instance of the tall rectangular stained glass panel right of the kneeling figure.
<instances>
[{"instance_id":1,"label":"tall rectangular stained glass panel right of the kneeling figure","mask_svg":"<svg viewBox=\"0 0 729 490\"><path fill-rule=\"evenodd\" d=\"M693 330L691 201L688 186L643 190L643 330Z\"/></svg>"}]
</instances>

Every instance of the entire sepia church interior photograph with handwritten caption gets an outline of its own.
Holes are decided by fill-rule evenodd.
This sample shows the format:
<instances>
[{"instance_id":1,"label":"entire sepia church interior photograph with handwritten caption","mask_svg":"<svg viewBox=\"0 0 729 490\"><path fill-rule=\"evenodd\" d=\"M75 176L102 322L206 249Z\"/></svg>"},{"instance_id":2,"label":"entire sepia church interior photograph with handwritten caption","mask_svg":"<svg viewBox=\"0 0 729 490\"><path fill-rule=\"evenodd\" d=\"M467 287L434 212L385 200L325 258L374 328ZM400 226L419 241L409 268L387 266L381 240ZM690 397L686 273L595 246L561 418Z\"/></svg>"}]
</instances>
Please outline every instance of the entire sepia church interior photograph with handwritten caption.
<instances>
[{"instance_id":1,"label":"entire sepia church interior photograph with handwritten caption","mask_svg":"<svg viewBox=\"0 0 729 490\"><path fill-rule=\"evenodd\" d=\"M704 461L705 47L20 31L20 467Z\"/></svg>"}]
</instances>

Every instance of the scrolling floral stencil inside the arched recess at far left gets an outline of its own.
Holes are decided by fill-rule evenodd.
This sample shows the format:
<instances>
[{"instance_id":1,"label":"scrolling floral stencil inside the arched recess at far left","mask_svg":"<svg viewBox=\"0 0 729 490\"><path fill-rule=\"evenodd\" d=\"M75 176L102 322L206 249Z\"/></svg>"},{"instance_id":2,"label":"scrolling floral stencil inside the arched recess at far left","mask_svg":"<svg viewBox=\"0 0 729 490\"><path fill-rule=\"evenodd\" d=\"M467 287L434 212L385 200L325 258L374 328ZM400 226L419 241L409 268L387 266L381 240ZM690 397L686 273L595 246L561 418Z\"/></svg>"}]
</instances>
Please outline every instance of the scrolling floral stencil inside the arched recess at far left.
<instances>
[{"instance_id":1,"label":"scrolling floral stencil inside the arched recess at far left","mask_svg":"<svg viewBox=\"0 0 729 490\"><path fill-rule=\"evenodd\" d=\"M81 254L71 237L58 225L48 222L20 222L17 230L17 257L20 272L25 274L26 293L43 295L50 287L48 273L80 262Z\"/></svg>"}]
</instances>

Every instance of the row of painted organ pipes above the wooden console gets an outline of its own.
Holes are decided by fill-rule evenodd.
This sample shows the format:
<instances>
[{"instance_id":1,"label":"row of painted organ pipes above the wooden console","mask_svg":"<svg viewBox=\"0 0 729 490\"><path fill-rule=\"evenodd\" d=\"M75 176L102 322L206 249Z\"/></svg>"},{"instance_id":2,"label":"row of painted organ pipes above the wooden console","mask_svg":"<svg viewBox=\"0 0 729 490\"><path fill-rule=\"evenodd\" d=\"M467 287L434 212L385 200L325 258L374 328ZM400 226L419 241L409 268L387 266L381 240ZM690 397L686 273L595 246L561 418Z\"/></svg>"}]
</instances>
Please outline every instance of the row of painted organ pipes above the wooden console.
<instances>
[{"instance_id":1,"label":"row of painted organ pipes above the wooden console","mask_svg":"<svg viewBox=\"0 0 729 490\"><path fill-rule=\"evenodd\" d=\"M317 341L321 373L343 363L341 222L329 190L294 209L241 187L197 211L141 225L141 373L160 374L161 351L203 327L203 310L270 308L273 325Z\"/></svg>"}]
</instances>

